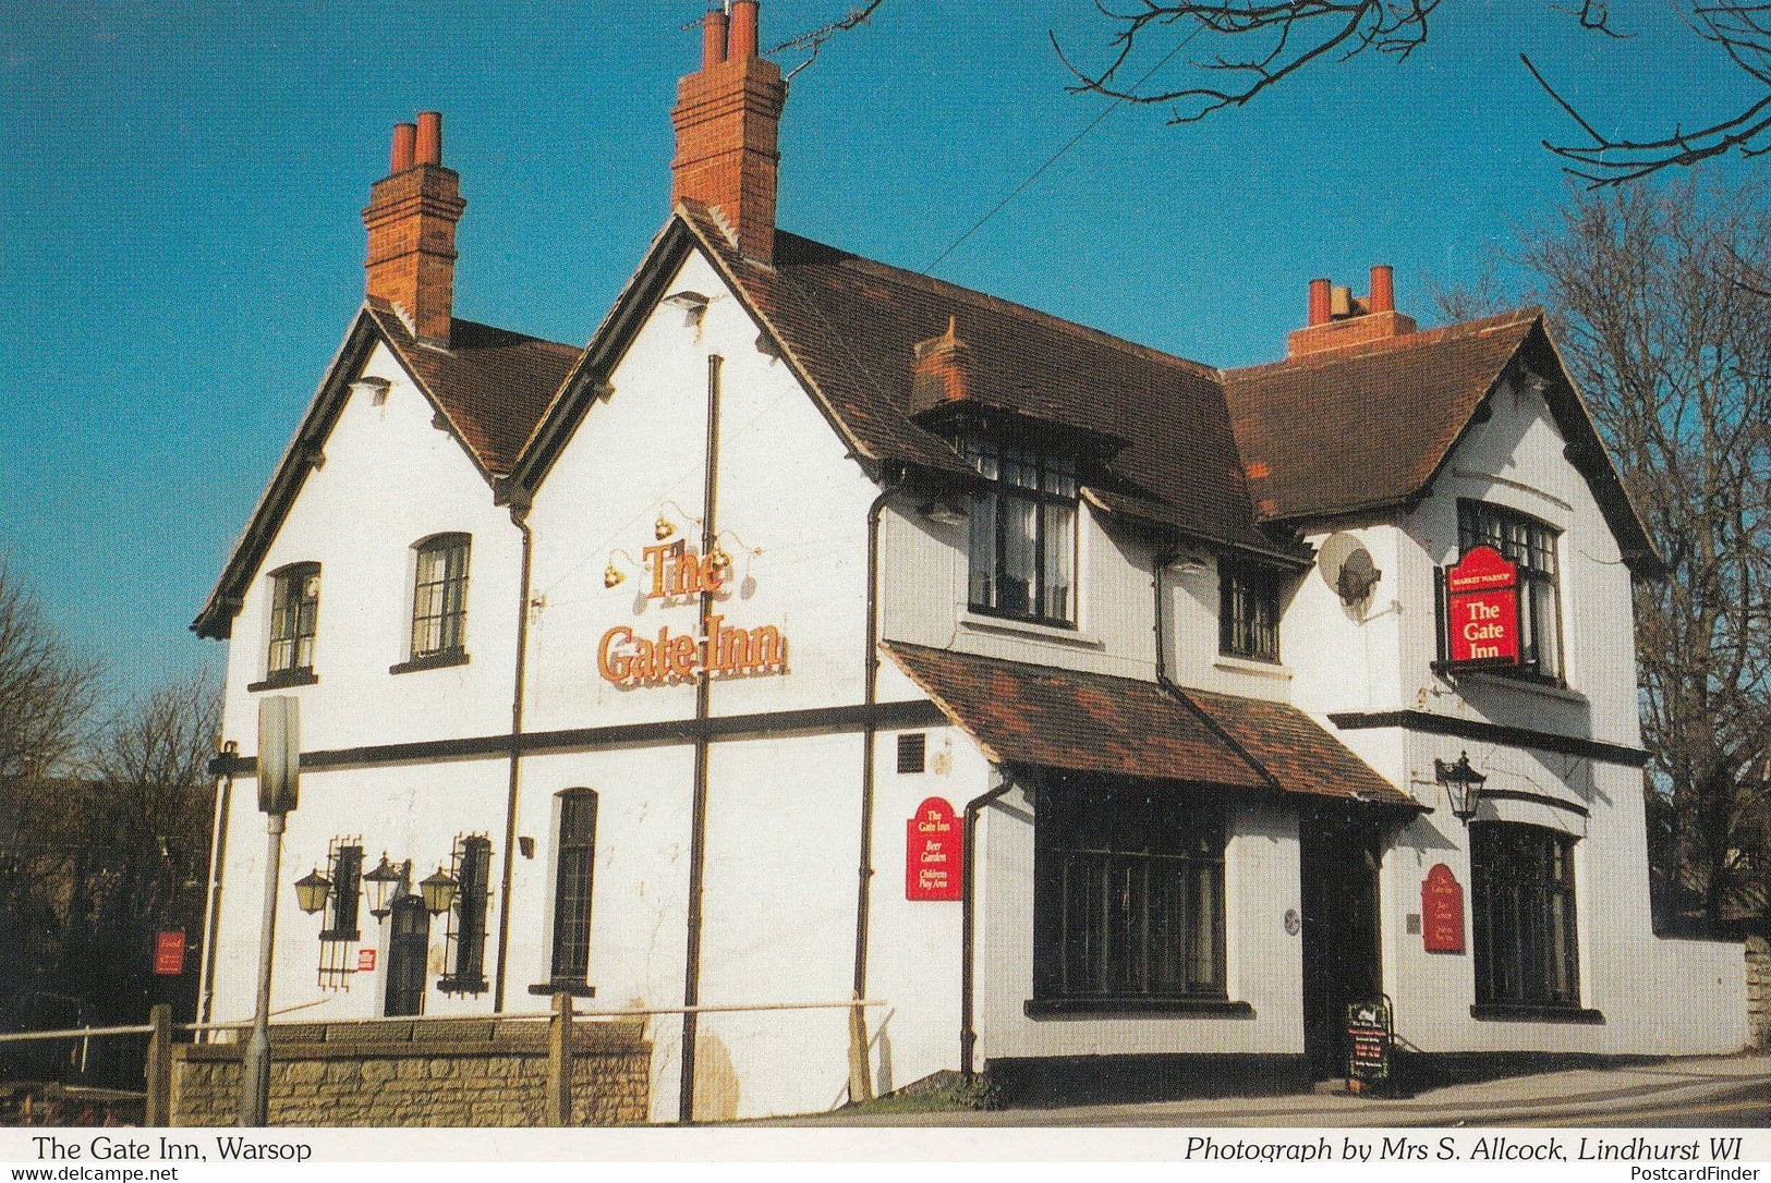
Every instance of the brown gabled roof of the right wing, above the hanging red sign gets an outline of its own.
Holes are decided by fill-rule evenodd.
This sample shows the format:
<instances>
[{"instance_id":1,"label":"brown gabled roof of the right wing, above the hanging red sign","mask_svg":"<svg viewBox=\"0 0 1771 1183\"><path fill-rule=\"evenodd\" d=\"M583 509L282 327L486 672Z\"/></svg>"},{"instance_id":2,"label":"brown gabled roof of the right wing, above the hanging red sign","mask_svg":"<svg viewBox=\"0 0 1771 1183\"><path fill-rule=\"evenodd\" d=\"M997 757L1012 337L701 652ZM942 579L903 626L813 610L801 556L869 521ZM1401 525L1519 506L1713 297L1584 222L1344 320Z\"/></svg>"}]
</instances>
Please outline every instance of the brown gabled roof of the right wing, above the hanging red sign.
<instances>
[{"instance_id":1,"label":"brown gabled roof of the right wing, above the hanging red sign","mask_svg":"<svg viewBox=\"0 0 1771 1183\"><path fill-rule=\"evenodd\" d=\"M1647 530L1544 331L1541 308L1227 370L1224 395L1261 521L1323 521L1424 496L1482 400L1509 374L1544 398L1642 574L1659 567Z\"/></svg>"}]
</instances>

